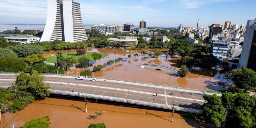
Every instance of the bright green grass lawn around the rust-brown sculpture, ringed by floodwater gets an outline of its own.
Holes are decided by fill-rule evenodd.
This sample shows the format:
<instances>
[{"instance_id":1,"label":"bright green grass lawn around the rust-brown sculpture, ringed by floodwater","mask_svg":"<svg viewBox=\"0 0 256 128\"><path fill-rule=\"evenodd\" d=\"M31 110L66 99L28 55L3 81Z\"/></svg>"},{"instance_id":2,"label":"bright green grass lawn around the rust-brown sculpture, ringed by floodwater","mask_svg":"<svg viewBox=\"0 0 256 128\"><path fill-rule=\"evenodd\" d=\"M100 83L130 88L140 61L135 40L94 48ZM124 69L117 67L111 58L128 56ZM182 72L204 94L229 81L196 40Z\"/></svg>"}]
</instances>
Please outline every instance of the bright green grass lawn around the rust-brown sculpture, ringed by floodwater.
<instances>
[{"instance_id":1,"label":"bright green grass lawn around the rust-brown sculpture, ringed by floodwater","mask_svg":"<svg viewBox=\"0 0 256 128\"><path fill-rule=\"evenodd\" d=\"M65 54L62 54L62 55L65 58L68 58L70 56L74 57L77 60L77 62L78 62L79 57L83 57L83 56L87 57L91 61L94 61L93 57L91 57L92 53L93 52L86 52L86 54L79 56L76 52L71 52L71 53L65 53ZM100 54L102 54L102 53L100 53ZM46 57L46 62L48 62L48 63L56 63L56 57L55 56ZM107 56L107 54L103 54L103 57L106 57L106 56Z\"/></svg>"}]
</instances>

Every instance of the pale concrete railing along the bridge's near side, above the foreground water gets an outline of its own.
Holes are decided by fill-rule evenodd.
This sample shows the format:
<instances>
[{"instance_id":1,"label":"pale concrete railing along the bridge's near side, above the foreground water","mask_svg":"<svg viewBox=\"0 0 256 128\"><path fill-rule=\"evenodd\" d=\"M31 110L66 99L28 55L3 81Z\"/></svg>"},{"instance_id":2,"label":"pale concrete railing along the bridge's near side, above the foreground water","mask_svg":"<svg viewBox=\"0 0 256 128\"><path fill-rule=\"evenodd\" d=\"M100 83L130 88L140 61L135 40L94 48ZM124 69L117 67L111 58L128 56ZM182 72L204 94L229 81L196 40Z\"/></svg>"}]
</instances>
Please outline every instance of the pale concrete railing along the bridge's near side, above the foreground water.
<instances>
[{"instance_id":1,"label":"pale concrete railing along the bridge's near side, above the foreground water","mask_svg":"<svg viewBox=\"0 0 256 128\"><path fill-rule=\"evenodd\" d=\"M51 93L61 94L61 95L70 95L70 96L88 97L93 99L103 99L103 100L109 100L109 101L115 101L115 102L125 102L130 104L137 104L137 105L157 107L157 108L170 109L170 110L173 109L172 105L158 104L158 103L138 101L138 100L132 100L132 99L129 99L129 102L128 102L128 99L111 97L111 96L101 96L101 95L94 95L94 94L87 94L87 93L60 91L60 90L51 90ZM174 106L174 110L188 112L188 113L197 113L197 114L201 114L203 112L202 110L196 110L192 108L184 108L184 107L178 107L178 106Z\"/></svg>"}]
</instances>

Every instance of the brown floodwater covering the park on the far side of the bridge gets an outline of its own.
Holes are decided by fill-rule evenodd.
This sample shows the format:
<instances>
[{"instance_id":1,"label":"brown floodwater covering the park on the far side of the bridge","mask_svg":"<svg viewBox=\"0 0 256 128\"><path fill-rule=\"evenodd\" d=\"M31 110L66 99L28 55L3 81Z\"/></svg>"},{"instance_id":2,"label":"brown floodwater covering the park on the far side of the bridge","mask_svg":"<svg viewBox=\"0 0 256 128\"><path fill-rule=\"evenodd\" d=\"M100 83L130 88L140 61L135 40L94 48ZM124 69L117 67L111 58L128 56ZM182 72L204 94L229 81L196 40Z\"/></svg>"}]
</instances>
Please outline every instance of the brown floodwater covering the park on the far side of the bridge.
<instances>
[{"instance_id":1,"label":"brown floodwater covering the park on the far side of the bridge","mask_svg":"<svg viewBox=\"0 0 256 128\"><path fill-rule=\"evenodd\" d=\"M158 58L152 58L148 55L142 55L141 50L127 50L127 49L102 49L102 48L88 48L87 51L92 52L101 52L108 54L107 57L104 57L100 60L97 60L93 65L103 65L107 63L108 60L115 60L118 57L122 57L126 62L118 62L103 68L101 71L93 72L94 77L104 77L111 79L123 79L139 82L147 82L154 84L163 84L174 86L174 87L183 87L183 88L193 88L199 90L213 90L213 86L209 86L211 72L209 70L194 70L191 71L191 74L188 74L187 77L181 78L171 72L158 71L152 68L141 68L136 65L142 65L143 63L157 64L157 65L166 65L174 68L179 68L177 64L177 59L181 57L174 57L166 55L161 55ZM44 56L54 55L58 51L44 51ZM63 50L65 53L65 50ZM68 50L67 50L68 52ZM76 52L76 49L70 50L70 52ZM151 52L151 51L148 51ZM138 53L138 57L134 57L133 54ZM128 55L131 54L132 57L128 58ZM89 68L72 68L65 72L68 75L80 75L80 72L85 70L93 70L93 66ZM211 82L223 81L222 77L218 78L216 71L213 71ZM209 89L211 87L211 89ZM216 86L215 86L216 87ZM216 90L216 88L214 89Z\"/></svg>"}]
</instances>

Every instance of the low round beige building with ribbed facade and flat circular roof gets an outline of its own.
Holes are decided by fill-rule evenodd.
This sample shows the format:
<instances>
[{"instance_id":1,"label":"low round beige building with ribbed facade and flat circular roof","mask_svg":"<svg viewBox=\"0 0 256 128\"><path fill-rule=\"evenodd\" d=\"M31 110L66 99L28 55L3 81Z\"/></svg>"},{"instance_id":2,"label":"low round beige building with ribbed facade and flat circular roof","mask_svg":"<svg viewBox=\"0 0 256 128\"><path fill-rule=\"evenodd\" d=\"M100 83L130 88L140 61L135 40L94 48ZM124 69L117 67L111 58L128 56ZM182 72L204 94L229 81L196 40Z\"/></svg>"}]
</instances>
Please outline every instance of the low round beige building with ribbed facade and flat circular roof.
<instances>
[{"instance_id":1,"label":"low round beige building with ribbed facade and flat circular roof","mask_svg":"<svg viewBox=\"0 0 256 128\"><path fill-rule=\"evenodd\" d=\"M124 37L118 37L118 38L109 38L107 40L110 41L112 44L117 44L121 41L126 41L131 46L135 46L135 45L138 44L137 37L130 37L130 36L124 36Z\"/></svg>"}]
</instances>

